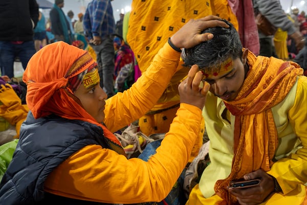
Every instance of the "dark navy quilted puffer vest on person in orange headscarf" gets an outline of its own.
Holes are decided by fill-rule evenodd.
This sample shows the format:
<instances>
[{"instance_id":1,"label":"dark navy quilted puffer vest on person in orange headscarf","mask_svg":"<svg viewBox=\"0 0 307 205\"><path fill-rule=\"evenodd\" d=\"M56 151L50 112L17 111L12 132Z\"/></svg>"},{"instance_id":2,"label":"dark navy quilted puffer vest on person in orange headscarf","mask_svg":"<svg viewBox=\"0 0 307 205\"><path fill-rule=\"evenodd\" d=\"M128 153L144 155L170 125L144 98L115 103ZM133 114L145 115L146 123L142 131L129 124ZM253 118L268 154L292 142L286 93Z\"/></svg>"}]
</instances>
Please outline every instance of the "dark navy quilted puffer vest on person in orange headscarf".
<instances>
[{"instance_id":1,"label":"dark navy quilted puffer vest on person in orange headscarf","mask_svg":"<svg viewBox=\"0 0 307 205\"><path fill-rule=\"evenodd\" d=\"M29 112L21 126L13 159L0 183L0 204L92 204L45 193L43 185L48 175L69 156L87 145L109 148L106 140L102 128L88 122L56 115L34 119Z\"/></svg>"}]
</instances>

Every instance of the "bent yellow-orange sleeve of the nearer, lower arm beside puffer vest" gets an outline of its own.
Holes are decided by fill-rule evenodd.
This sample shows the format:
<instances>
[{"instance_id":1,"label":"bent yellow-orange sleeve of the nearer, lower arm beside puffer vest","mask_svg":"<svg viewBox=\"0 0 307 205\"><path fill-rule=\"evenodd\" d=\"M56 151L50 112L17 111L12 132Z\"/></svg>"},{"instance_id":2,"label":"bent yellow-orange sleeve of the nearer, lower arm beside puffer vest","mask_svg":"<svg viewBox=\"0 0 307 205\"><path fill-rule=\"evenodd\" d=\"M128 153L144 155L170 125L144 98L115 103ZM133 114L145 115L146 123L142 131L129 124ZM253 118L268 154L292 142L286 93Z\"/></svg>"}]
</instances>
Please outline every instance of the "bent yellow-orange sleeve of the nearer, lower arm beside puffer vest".
<instances>
[{"instance_id":1,"label":"bent yellow-orange sleeve of the nearer, lower arm beside puffer vest","mask_svg":"<svg viewBox=\"0 0 307 205\"><path fill-rule=\"evenodd\" d=\"M181 104L157 153L147 162L126 159L97 145L86 146L50 174L45 190L106 203L161 201L186 166L201 121L199 108Z\"/></svg>"}]
</instances>

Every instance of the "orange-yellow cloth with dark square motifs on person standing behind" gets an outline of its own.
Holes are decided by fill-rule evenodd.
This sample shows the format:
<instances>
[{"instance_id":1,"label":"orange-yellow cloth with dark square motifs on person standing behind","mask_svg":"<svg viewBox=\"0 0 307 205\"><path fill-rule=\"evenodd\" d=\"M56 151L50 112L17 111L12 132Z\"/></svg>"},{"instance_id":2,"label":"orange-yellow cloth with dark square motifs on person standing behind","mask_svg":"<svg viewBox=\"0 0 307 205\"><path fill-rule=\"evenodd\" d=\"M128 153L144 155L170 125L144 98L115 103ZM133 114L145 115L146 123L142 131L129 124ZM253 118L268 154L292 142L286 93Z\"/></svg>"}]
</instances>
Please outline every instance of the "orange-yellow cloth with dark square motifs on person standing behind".
<instances>
[{"instance_id":1,"label":"orange-yellow cloth with dark square motifs on person standing behind","mask_svg":"<svg viewBox=\"0 0 307 205\"><path fill-rule=\"evenodd\" d=\"M142 73L146 71L164 42L191 18L217 15L230 20L236 28L238 25L227 0L133 1L131 8L127 43L133 50ZM183 62L180 62L178 67L182 68L182 64ZM180 105L177 88L180 81L187 75L188 68L178 70L155 106L140 117L139 126L144 134L167 132L176 116ZM202 146L203 129L201 131L198 143L194 147L195 154L192 154L191 159L193 155L197 155Z\"/></svg>"}]
</instances>

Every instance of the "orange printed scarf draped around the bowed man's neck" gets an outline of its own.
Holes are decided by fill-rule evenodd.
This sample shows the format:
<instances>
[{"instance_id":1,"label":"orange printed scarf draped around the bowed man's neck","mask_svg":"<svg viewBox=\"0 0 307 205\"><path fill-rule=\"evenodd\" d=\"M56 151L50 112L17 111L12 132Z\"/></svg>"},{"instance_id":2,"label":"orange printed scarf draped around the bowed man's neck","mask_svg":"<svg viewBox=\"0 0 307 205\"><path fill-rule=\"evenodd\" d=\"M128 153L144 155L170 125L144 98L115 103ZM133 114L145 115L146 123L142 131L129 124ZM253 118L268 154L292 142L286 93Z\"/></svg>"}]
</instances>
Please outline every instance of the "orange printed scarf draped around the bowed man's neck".
<instances>
[{"instance_id":1,"label":"orange printed scarf draped around the bowed man's neck","mask_svg":"<svg viewBox=\"0 0 307 205\"><path fill-rule=\"evenodd\" d=\"M227 186L233 179L258 169L269 171L278 146L278 134L271 108L289 93L303 70L298 64L277 58L256 57L249 51L250 70L234 101L225 101L235 115L234 157L230 175L215 183L222 204L237 204Z\"/></svg>"}]
</instances>

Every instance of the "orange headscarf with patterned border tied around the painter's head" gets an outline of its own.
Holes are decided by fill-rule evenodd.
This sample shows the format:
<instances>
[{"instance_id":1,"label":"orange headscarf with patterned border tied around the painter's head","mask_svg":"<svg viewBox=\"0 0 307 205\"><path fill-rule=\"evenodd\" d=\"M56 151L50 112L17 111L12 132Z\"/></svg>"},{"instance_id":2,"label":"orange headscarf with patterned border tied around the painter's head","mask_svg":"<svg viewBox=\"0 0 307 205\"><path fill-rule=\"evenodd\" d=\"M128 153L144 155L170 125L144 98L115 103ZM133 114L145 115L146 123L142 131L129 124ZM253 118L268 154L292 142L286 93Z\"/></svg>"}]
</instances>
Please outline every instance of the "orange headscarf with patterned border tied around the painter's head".
<instances>
[{"instance_id":1,"label":"orange headscarf with patterned border tied around the painter's head","mask_svg":"<svg viewBox=\"0 0 307 205\"><path fill-rule=\"evenodd\" d=\"M43 47L32 56L24 72L27 105L35 118L53 113L101 127L112 149L124 154L115 135L87 113L67 87L70 78L96 66L97 63L87 51L67 43L56 42Z\"/></svg>"}]
</instances>

